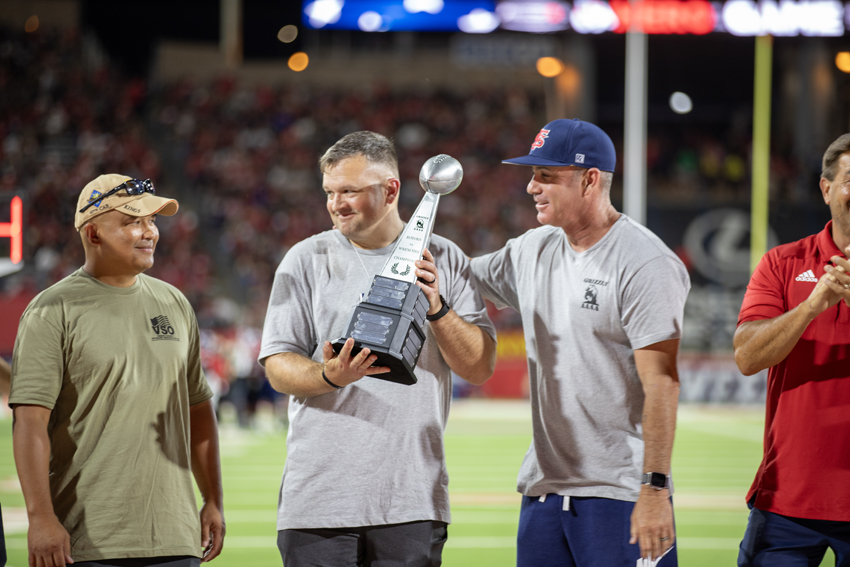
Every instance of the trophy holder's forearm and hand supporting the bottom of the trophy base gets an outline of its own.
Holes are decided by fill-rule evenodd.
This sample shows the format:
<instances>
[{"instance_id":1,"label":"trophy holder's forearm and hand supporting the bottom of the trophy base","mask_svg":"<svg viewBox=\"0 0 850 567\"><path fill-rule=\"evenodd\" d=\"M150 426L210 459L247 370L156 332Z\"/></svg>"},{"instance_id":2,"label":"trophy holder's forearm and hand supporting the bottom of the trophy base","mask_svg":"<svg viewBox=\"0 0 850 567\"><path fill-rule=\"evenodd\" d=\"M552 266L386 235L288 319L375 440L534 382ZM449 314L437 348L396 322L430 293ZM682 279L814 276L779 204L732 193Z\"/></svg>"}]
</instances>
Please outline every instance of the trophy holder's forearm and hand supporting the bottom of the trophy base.
<instances>
[{"instance_id":1,"label":"trophy holder's forearm and hand supporting the bottom of the trophy base","mask_svg":"<svg viewBox=\"0 0 850 567\"><path fill-rule=\"evenodd\" d=\"M356 356L351 356L353 348L354 339L350 338L345 341L337 355L331 343L325 341L322 347L323 363L294 352L273 354L265 361L266 376L272 388L278 392L297 398L309 398L344 388L367 374L390 371L386 366L372 368L378 357L370 354L368 348L364 348Z\"/></svg>"}]
</instances>

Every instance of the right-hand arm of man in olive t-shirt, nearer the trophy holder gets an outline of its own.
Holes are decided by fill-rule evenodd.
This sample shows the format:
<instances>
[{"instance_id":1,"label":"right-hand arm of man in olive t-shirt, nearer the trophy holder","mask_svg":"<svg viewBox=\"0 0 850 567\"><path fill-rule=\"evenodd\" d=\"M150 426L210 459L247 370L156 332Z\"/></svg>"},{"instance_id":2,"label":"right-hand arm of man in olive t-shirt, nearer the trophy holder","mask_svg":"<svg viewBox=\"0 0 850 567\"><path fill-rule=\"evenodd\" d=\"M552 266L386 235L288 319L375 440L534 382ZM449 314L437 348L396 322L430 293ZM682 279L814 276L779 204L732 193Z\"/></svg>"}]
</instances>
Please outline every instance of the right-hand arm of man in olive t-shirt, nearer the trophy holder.
<instances>
[{"instance_id":1,"label":"right-hand arm of man in olive t-shirt, nearer the trophy holder","mask_svg":"<svg viewBox=\"0 0 850 567\"><path fill-rule=\"evenodd\" d=\"M224 492L218 450L218 427L212 400L189 408L192 474L204 499L201 508L202 562L212 561L224 543Z\"/></svg>"}]
</instances>

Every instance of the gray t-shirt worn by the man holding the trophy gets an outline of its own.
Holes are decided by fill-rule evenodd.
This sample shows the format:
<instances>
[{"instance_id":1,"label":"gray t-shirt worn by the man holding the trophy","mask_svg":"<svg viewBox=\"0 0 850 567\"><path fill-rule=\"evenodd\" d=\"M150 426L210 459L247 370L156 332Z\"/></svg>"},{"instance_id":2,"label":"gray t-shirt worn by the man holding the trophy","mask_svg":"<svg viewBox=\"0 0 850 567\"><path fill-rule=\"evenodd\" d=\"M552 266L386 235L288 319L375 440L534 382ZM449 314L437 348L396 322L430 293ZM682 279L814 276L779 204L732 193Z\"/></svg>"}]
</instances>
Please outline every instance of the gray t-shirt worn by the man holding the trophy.
<instances>
[{"instance_id":1,"label":"gray t-shirt worn by the man holding the trophy","mask_svg":"<svg viewBox=\"0 0 850 567\"><path fill-rule=\"evenodd\" d=\"M355 250L338 230L293 246L275 273L260 362L282 352L321 362L322 344L343 336L352 307L393 246ZM466 256L437 235L429 249L446 301L495 338ZM451 370L428 323L425 336L412 386L367 376L341 390L291 398L279 530L450 521L443 430Z\"/></svg>"}]
</instances>

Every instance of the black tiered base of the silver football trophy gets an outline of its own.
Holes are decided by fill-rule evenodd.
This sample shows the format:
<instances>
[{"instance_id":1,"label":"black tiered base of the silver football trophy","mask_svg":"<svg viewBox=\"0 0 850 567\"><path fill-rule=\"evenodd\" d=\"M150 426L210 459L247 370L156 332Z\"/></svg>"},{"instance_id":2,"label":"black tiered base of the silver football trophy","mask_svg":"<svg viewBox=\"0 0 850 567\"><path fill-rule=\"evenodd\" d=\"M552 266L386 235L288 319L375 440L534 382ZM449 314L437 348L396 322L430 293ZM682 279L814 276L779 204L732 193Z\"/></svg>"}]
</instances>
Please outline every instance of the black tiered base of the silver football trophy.
<instances>
[{"instance_id":1,"label":"black tiered base of the silver football trophy","mask_svg":"<svg viewBox=\"0 0 850 567\"><path fill-rule=\"evenodd\" d=\"M413 283L375 276L369 295L354 306L345 335L333 343L339 354L345 341L354 339L352 356L364 348L378 356L373 366L390 371L369 374L372 378L397 384L416 383L416 363L425 342L425 315L428 299Z\"/></svg>"}]
</instances>

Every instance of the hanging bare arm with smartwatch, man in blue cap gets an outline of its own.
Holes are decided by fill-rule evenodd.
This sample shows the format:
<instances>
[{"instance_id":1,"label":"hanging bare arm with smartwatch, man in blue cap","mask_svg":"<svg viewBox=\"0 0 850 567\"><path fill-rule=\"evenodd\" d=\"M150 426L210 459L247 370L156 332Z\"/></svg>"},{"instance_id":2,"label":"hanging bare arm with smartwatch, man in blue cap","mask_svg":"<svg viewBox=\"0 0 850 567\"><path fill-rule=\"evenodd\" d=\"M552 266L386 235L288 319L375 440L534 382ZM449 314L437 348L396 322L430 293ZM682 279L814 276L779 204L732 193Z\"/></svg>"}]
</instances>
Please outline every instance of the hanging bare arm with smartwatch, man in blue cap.
<instances>
[{"instance_id":1,"label":"hanging bare arm with smartwatch, man in blue cap","mask_svg":"<svg viewBox=\"0 0 850 567\"><path fill-rule=\"evenodd\" d=\"M643 385L643 472L670 472L676 409L679 404L679 374L676 355L679 339L662 341L635 350L635 366ZM631 539L639 543L641 557L660 557L676 541L670 490L641 485L632 512Z\"/></svg>"}]
</instances>

